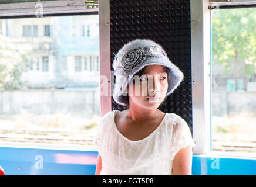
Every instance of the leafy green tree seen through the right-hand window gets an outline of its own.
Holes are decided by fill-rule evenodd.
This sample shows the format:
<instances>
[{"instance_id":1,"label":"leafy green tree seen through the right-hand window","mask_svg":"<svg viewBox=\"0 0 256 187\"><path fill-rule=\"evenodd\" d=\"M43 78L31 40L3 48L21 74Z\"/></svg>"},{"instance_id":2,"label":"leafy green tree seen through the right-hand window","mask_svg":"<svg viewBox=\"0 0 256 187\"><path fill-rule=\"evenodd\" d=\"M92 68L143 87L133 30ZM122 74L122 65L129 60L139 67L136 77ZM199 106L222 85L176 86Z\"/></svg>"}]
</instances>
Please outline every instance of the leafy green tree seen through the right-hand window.
<instances>
[{"instance_id":1,"label":"leafy green tree seen through the right-hand window","mask_svg":"<svg viewBox=\"0 0 256 187\"><path fill-rule=\"evenodd\" d=\"M235 90L239 73L252 77L256 73L256 9L221 9L212 18L213 60L234 72ZM238 68L238 60L243 67Z\"/></svg>"}]
</instances>

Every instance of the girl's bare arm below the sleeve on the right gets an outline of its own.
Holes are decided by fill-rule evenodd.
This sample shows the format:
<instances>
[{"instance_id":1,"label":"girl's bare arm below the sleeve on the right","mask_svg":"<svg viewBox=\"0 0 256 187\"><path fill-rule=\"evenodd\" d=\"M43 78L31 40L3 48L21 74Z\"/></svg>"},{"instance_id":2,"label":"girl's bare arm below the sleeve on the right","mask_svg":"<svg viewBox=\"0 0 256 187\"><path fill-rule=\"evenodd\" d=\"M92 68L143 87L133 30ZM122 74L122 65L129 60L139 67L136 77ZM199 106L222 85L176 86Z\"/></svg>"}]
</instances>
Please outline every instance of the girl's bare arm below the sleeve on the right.
<instances>
[{"instance_id":1,"label":"girl's bare arm below the sleeve on the right","mask_svg":"<svg viewBox=\"0 0 256 187\"><path fill-rule=\"evenodd\" d=\"M173 175L191 175L192 146L181 148L173 159Z\"/></svg>"}]
</instances>

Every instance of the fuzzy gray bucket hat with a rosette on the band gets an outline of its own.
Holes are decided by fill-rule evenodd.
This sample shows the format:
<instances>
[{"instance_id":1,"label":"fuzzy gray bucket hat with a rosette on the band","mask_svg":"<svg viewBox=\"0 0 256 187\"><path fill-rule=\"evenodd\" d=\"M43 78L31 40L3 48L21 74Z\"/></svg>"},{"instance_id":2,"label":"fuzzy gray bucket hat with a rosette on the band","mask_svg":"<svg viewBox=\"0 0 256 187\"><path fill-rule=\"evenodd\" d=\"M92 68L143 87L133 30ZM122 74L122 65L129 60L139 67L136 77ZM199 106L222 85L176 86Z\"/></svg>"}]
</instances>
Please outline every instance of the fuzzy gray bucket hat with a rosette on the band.
<instances>
[{"instance_id":1,"label":"fuzzy gray bucket hat with a rosette on the band","mask_svg":"<svg viewBox=\"0 0 256 187\"><path fill-rule=\"evenodd\" d=\"M170 95L180 82L183 81L183 73L166 56L163 47L154 41L147 39L136 39L125 44L116 54L113 61L114 84L113 98L116 103L128 106L126 88L133 75L147 65L163 65L169 69L167 95Z\"/></svg>"}]
</instances>

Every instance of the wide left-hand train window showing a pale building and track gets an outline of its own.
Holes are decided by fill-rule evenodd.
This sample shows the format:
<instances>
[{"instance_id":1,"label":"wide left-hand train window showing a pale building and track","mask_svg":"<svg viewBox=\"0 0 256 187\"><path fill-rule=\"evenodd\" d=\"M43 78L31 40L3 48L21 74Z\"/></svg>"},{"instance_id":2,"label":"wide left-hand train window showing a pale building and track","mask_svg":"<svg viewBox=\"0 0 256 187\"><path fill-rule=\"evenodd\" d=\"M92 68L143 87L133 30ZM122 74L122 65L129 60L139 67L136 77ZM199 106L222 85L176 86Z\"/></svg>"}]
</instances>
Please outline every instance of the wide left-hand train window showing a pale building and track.
<instances>
[{"instance_id":1,"label":"wide left-hand train window showing a pale building and track","mask_svg":"<svg viewBox=\"0 0 256 187\"><path fill-rule=\"evenodd\" d=\"M0 144L93 148L99 77L98 15L0 19Z\"/></svg>"}]
</instances>

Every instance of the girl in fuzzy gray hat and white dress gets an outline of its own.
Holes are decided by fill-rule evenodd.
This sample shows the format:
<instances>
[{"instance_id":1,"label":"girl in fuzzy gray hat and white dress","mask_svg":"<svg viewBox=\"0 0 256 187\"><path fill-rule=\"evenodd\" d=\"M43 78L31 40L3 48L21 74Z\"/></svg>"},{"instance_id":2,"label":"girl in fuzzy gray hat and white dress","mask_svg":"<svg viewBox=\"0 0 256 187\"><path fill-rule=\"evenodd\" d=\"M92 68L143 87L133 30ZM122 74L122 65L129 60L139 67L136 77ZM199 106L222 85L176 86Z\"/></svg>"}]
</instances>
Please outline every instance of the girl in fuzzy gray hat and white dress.
<instances>
[{"instance_id":1,"label":"girl in fuzzy gray hat and white dress","mask_svg":"<svg viewBox=\"0 0 256 187\"><path fill-rule=\"evenodd\" d=\"M113 61L113 98L127 110L102 116L96 175L191 175L193 139L187 123L159 106L183 73L151 40L133 40Z\"/></svg>"}]
</instances>

